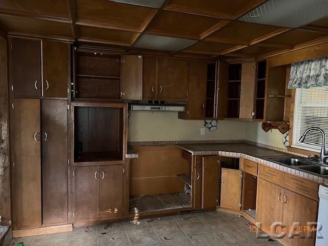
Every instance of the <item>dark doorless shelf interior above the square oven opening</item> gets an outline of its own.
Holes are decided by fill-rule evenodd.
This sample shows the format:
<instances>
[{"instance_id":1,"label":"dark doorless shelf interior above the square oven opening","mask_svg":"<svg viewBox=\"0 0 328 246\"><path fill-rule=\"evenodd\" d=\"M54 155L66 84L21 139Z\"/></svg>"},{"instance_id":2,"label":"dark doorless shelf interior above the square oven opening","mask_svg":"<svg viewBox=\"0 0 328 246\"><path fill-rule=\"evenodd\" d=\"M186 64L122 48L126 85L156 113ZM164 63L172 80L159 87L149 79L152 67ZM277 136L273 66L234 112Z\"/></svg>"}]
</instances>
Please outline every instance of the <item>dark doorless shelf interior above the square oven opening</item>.
<instances>
[{"instance_id":1,"label":"dark doorless shelf interior above the square oven opening","mask_svg":"<svg viewBox=\"0 0 328 246\"><path fill-rule=\"evenodd\" d=\"M75 98L120 99L119 55L78 50L75 56Z\"/></svg>"}]
</instances>

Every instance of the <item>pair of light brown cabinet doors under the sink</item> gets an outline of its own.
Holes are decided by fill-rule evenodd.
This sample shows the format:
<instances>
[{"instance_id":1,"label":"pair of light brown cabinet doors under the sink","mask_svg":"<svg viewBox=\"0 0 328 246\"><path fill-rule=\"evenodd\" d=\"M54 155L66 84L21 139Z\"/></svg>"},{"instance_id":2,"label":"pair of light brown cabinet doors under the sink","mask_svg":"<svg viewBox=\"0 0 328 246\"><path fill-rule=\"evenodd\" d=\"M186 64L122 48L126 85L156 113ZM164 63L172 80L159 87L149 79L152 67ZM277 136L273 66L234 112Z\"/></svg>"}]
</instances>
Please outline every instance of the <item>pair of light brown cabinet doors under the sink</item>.
<instances>
[{"instance_id":1,"label":"pair of light brown cabinet doors under the sink","mask_svg":"<svg viewBox=\"0 0 328 246\"><path fill-rule=\"evenodd\" d=\"M314 245L315 233L309 230L317 221L317 201L259 178L257 203L257 221L262 229L268 231L273 223L281 222L282 228L271 232L286 234L282 241L293 246Z\"/></svg>"}]
</instances>

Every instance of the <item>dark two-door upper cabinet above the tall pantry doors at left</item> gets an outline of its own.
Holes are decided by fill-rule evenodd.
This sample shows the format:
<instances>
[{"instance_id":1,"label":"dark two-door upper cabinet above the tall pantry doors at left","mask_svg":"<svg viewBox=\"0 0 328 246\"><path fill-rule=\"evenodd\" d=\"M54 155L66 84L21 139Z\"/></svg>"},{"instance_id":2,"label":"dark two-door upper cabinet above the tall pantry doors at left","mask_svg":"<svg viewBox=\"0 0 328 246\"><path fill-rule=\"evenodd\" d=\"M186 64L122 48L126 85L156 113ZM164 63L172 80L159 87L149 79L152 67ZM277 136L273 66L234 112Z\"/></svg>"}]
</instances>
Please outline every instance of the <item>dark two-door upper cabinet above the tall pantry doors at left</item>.
<instances>
[{"instance_id":1,"label":"dark two-door upper cabinet above the tall pantry doors at left","mask_svg":"<svg viewBox=\"0 0 328 246\"><path fill-rule=\"evenodd\" d=\"M15 96L67 98L70 45L9 38L10 85Z\"/></svg>"}]
</instances>

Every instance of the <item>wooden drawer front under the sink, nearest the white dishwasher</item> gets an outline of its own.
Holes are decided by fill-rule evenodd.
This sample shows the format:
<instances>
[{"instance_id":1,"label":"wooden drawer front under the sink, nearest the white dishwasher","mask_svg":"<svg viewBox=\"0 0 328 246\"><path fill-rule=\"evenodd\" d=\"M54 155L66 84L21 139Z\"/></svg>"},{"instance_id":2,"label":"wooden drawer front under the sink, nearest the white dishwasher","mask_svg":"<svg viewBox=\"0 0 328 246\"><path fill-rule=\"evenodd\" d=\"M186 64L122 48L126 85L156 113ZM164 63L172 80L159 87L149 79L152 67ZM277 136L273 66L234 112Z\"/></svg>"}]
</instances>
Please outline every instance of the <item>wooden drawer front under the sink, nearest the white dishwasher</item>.
<instances>
[{"instance_id":1,"label":"wooden drawer front under the sink, nearest the white dishwasher","mask_svg":"<svg viewBox=\"0 0 328 246\"><path fill-rule=\"evenodd\" d=\"M315 182L286 173L284 185L301 195L318 199L319 185Z\"/></svg>"}]
</instances>

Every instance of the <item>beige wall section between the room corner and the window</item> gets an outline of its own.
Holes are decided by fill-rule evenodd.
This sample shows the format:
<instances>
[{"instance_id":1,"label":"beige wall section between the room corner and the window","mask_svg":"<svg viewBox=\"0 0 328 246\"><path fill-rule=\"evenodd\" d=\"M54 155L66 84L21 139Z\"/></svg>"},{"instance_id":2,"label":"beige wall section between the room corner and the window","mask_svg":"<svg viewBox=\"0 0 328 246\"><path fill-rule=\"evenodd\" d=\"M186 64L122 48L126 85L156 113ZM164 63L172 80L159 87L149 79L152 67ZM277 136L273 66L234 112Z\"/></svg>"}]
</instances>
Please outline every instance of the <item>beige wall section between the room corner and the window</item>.
<instances>
[{"instance_id":1,"label":"beige wall section between the room corner and the window","mask_svg":"<svg viewBox=\"0 0 328 246\"><path fill-rule=\"evenodd\" d=\"M245 139L253 142L259 142L264 145L270 145L278 148L285 148L282 144L283 135L278 129L272 129L264 132L261 122L245 122Z\"/></svg>"}]
</instances>

